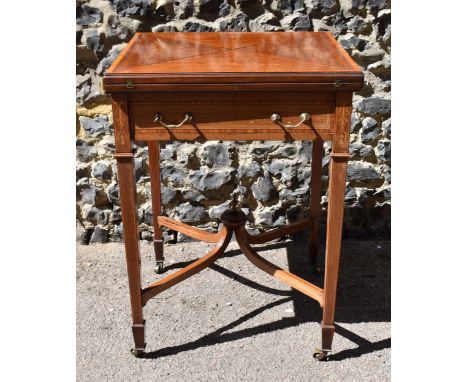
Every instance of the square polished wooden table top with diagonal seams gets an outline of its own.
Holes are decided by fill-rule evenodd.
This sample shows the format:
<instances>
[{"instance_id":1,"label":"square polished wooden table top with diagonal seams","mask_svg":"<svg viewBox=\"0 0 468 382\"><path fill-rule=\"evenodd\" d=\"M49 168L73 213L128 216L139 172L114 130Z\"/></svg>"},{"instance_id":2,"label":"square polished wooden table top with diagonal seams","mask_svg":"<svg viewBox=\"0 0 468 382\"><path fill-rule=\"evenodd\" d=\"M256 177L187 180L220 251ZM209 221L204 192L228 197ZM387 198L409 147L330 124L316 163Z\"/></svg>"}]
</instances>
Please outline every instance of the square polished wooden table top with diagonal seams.
<instances>
[{"instance_id":1,"label":"square polished wooden table top with diagonal seams","mask_svg":"<svg viewBox=\"0 0 468 382\"><path fill-rule=\"evenodd\" d=\"M361 68L329 32L136 33L104 76L135 84L363 85ZM335 84L336 85L336 84Z\"/></svg>"}]
</instances>

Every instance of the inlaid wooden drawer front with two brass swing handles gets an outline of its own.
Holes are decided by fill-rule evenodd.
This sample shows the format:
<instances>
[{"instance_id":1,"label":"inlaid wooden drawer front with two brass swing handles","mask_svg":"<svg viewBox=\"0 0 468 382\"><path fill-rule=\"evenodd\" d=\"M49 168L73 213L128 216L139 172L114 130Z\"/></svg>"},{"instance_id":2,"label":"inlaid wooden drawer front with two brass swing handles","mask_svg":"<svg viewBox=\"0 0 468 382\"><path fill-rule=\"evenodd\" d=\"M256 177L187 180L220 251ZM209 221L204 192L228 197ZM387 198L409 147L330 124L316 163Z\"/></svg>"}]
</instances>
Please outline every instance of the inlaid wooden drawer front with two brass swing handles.
<instances>
[{"instance_id":1,"label":"inlaid wooden drawer front with two brass swing handles","mask_svg":"<svg viewBox=\"0 0 468 382\"><path fill-rule=\"evenodd\" d=\"M181 126L164 126L178 125L187 113L192 118ZM291 127L303 113L310 121ZM334 93L158 93L130 99L136 140L326 140L335 128L334 113ZM278 123L273 114L280 116Z\"/></svg>"}]
</instances>

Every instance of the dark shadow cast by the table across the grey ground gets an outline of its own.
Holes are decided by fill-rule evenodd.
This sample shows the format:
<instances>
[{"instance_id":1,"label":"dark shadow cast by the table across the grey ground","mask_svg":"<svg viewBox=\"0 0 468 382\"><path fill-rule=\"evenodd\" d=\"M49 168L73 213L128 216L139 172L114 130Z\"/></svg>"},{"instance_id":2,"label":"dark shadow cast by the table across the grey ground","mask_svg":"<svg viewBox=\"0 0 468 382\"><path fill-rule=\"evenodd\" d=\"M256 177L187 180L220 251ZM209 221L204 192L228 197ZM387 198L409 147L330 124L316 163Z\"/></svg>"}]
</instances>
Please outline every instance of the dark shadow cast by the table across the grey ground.
<instances>
[{"instance_id":1,"label":"dark shadow cast by the table across the grey ground","mask_svg":"<svg viewBox=\"0 0 468 382\"><path fill-rule=\"evenodd\" d=\"M277 242L258 247L258 252L286 248L290 272L323 286L323 276L316 276L310 271L307 254L307 237L299 235L294 241ZM320 259L324 261L324 249L321 248ZM224 256L239 256L240 250L228 251ZM183 268L190 262L172 264L168 269ZM321 322L322 310L316 301L295 291L283 291L260 285L255 281L240 276L218 264L211 269L230 277L251 288L264 293L284 296L277 301L266 304L240 317L230 324L221 327L199 339L182 345L166 347L143 355L144 358L159 358L180 352L195 350L228 341L235 341L260 333L297 326L305 322ZM340 277L338 284L337 306L335 320L340 323L389 322L390 321L390 243L378 241L344 241L342 246ZM236 332L225 333L248 321L256 315L274 306L293 301L295 316L283 318L268 324ZM330 356L330 361L340 361L359 357L363 354L389 348L391 339L370 342L365 338L335 324L335 332L357 345L357 348L347 349Z\"/></svg>"}]
</instances>

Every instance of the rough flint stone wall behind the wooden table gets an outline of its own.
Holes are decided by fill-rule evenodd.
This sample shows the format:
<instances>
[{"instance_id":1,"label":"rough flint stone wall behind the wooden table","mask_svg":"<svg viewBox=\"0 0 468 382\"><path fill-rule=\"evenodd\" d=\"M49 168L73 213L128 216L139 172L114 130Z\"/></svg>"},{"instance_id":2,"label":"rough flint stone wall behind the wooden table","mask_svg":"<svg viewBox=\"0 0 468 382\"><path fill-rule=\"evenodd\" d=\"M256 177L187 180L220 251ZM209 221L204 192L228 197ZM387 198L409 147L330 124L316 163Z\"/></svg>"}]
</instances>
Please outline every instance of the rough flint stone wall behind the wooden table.
<instances>
[{"instance_id":1,"label":"rough flint stone wall behind the wooden table","mask_svg":"<svg viewBox=\"0 0 468 382\"><path fill-rule=\"evenodd\" d=\"M77 0L76 24L77 214L91 242L122 239L112 114L101 79L137 31L333 33L365 72L353 101L345 232L389 235L390 0ZM329 144L325 149L324 210ZM164 212L216 229L237 190L257 229L281 226L307 212L310 159L310 142L168 143L161 150ZM135 162L141 236L151 240L145 145Z\"/></svg>"}]
</instances>

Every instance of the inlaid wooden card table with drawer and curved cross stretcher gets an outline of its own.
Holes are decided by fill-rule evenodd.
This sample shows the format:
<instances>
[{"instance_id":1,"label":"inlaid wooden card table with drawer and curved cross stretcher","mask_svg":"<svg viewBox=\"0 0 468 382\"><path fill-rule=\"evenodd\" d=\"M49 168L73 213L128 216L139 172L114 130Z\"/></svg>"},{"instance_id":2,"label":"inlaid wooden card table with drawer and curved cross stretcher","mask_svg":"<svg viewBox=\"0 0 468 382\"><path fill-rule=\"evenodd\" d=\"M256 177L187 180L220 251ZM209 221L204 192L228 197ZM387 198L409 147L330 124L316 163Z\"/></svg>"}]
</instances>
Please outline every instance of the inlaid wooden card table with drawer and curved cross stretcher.
<instances>
[{"instance_id":1,"label":"inlaid wooden card table with drawer and curved cross stretcher","mask_svg":"<svg viewBox=\"0 0 468 382\"><path fill-rule=\"evenodd\" d=\"M146 346L143 306L216 261L235 233L255 266L318 301L322 345L314 357L327 358L334 333L352 92L362 86L360 68L328 32L137 33L132 38L105 74L104 88L112 96L134 355ZM162 216L159 143L175 140L313 141L308 218L250 235L235 202L222 215L218 233ZM309 230L311 267L316 269L325 140L332 142L332 152L322 289L260 257L252 245ZM157 272L164 271L162 227L214 244L204 257L145 288L133 141L148 142Z\"/></svg>"}]
</instances>

